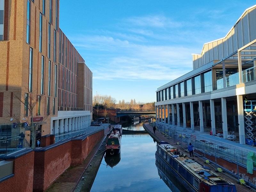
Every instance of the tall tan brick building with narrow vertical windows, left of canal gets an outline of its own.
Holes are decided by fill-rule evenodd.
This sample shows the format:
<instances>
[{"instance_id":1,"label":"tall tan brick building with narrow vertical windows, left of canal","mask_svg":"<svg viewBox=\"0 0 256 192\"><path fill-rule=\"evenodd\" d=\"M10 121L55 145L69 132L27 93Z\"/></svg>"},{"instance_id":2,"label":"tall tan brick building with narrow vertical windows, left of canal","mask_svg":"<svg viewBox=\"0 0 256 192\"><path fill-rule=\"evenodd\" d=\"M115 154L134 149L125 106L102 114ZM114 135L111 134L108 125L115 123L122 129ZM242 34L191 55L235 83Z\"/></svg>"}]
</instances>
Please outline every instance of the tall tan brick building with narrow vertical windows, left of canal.
<instances>
[{"instance_id":1,"label":"tall tan brick building with narrow vertical windows, left of canal","mask_svg":"<svg viewBox=\"0 0 256 192\"><path fill-rule=\"evenodd\" d=\"M30 119L17 97L26 100L31 94L40 100L33 113L49 115L42 135L91 122L92 72L59 28L59 3L0 0L0 135L12 130L14 119Z\"/></svg>"}]
</instances>

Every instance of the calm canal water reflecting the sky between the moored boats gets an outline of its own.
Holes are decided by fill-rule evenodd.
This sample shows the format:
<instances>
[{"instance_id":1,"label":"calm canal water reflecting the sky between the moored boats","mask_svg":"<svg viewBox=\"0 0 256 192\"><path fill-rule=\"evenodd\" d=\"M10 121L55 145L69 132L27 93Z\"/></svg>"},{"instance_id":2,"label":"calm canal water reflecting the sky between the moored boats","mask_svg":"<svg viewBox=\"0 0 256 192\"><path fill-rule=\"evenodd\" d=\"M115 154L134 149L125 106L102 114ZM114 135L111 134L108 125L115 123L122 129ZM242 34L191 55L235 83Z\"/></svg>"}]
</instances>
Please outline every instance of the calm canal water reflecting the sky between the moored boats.
<instances>
[{"instance_id":1,"label":"calm canal water reflecting the sky between the moored boats","mask_svg":"<svg viewBox=\"0 0 256 192\"><path fill-rule=\"evenodd\" d=\"M124 125L123 129L144 130L142 123ZM161 170L157 170L155 153L156 143L150 135L124 134L120 156L103 157L91 192L180 191L177 184L173 185Z\"/></svg>"}]
</instances>

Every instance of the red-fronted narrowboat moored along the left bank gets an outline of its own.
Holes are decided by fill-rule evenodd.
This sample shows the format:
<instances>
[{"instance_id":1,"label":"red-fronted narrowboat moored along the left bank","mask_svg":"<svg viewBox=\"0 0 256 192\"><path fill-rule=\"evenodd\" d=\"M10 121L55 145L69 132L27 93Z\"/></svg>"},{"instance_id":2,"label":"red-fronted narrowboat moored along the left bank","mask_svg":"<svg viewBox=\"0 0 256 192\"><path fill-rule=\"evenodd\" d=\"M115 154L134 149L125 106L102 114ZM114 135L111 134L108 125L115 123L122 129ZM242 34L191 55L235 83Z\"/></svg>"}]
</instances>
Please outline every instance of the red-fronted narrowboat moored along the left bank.
<instances>
[{"instance_id":1,"label":"red-fronted narrowboat moored along the left bank","mask_svg":"<svg viewBox=\"0 0 256 192\"><path fill-rule=\"evenodd\" d=\"M106 154L114 155L120 153L121 138L122 138L122 125L115 125L113 132L108 136L105 150Z\"/></svg>"}]
</instances>

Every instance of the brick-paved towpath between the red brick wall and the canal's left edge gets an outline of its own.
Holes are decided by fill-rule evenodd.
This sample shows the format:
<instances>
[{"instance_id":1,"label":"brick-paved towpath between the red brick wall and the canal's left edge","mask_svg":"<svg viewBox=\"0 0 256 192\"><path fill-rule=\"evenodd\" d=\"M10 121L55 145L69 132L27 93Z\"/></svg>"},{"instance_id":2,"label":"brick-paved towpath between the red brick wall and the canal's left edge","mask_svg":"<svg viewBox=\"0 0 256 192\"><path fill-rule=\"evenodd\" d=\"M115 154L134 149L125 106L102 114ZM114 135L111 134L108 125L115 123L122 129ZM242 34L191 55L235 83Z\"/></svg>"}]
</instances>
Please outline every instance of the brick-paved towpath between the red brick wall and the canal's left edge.
<instances>
[{"instance_id":1,"label":"brick-paved towpath between the red brick wall and the canal's left edge","mask_svg":"<svg viewBox=\"0 0 256 192\"><path fill-rule=\"evenodd\" d=\"M96 152L98 151L100 144L102 141L106 138L106 135L109 132L108 125L104 125L104 137L102 140L98 142L98 144L93 148L91 153L86 157L83 164L71 166L69 167L53 184L51 187L49 187L46 191L47 192L62 192L62 191L74 191L76 186L79 184L79 181L82 179L81 175L84 174L86 169L88 168L88 165L90 164L92 158L95 156ZM90 127L96 127L96 126L90 126ZM97 129L97 128L95 128ZM95 131L94 129L94 131ZM98 127L99 129L99 127ZM92 131L93 132L93 131ZM105 145L104 145L105 146ZM98 168L97 168L98 169ZM93 181L92 181L93 182Z\"/></svg>"}]
</instances>

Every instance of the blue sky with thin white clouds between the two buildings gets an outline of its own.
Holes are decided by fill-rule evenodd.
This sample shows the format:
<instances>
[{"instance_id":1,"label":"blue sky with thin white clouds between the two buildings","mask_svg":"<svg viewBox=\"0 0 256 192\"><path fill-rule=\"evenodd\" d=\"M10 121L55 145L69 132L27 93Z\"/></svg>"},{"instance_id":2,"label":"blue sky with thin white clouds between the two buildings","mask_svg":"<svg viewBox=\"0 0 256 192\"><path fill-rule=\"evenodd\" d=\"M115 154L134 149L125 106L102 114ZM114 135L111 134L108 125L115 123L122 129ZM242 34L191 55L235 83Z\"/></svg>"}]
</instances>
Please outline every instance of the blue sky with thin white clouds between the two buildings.
<instances>
[{"instance_id":1,"label":"blue sky with thin white clouds between the two buildings","mask_svg":"<svg viewBox=\"0 0 256 192\"><path fill-rule=\"evenodd\" d=\"M60 1L60 28L93 72L93 95L156 101L192 70L192 53L227 34L255 0Z\"/></svg>"}]
</instances>

